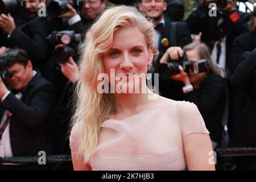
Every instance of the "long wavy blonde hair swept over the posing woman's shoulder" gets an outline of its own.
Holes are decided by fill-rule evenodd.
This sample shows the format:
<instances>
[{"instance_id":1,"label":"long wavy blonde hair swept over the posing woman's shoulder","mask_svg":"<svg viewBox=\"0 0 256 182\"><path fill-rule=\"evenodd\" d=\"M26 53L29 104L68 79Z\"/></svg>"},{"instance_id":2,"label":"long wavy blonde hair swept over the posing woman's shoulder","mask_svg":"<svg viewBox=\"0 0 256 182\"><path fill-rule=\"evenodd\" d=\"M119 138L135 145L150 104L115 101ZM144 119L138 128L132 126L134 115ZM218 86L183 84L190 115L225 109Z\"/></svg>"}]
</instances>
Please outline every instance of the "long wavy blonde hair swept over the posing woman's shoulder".
<instances>
[{"instance_id":1,"label":"long wavy blonde hair swept over the posing woman's shoulder","mask_svg":"<svg viewBox=\"0 0 256 182\"><path fill-rule=\"evenodd\" d=\"M90 28L90 36L86 36L81 45L80 78L72 127L79 125L77 144L79 152L84 154L85 163L96 150L101 124L115 113L114 95L97 92L97 77L104 73L103 55L112 46L114 33L126 27L137 27L145 36L148 48L154 47L154 24L135 7L129 6L106 10Z\"/></svg>"}]
</instances>

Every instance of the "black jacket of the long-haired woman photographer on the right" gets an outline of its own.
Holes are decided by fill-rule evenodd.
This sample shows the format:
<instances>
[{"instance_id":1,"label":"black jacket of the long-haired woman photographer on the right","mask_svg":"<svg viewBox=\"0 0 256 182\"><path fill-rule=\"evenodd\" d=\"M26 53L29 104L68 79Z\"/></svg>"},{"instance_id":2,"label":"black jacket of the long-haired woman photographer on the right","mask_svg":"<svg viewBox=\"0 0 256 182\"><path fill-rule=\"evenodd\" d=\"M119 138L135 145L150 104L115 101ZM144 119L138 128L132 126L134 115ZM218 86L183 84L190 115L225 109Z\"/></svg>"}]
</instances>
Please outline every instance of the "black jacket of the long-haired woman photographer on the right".
<instances>
[{"instance_id":1,"label":"black jacket of the long-haired woman photographer on the right","mask_svg":"<svg viewBox=\"0 0 256 182\"><path fill-rule=\"evenodd\" d=\"M182 92L182 90L180 90ZM221 119L226 101L226 85L221 76L209 75L198 89L184 94L184 100L193 102L204 118L210 139L221 144Z\"/></svg>"}]
</instances>

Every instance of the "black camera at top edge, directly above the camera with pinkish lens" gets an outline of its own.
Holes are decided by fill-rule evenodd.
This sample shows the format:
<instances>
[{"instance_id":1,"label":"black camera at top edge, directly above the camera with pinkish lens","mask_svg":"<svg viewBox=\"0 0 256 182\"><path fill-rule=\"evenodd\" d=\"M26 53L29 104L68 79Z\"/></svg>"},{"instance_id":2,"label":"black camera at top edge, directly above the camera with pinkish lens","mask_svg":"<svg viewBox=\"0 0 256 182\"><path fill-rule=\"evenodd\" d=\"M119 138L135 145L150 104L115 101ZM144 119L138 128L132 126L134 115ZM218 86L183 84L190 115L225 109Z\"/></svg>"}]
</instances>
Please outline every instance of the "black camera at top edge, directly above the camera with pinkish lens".
<instances>
[{"instance_id":1,"label":"black camera at top edge, directly above the camera with pinkish lens","mask_svg":"<svg viewBox=\"0 0 256 182\"><path fill-rule=\"evenodd\" d=\"M68 11L68 4L79 11L82 5L84 5L84 0L53 0L47 6L47 12L52 16L64 14Z\"/></svg>"}]
</instances>

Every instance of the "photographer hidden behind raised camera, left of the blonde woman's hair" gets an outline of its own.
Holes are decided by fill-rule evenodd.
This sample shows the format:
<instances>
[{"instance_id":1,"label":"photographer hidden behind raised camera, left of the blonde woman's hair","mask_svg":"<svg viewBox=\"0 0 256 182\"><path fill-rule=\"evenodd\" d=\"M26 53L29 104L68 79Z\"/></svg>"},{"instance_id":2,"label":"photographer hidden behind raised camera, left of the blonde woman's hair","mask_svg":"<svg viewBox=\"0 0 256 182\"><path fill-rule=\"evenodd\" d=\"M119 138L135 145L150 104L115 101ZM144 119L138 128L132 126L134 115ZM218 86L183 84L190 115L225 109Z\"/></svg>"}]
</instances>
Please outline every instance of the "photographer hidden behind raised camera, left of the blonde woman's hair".
<instances>
[{"instance_id":1,"label":"photographer hidden behind raised camera, left of the blonde woman's hair","mask_svg":"<svg viewBox=\"0 0 256 182\"><path fill-rule=\"evenodd\" d=\"M74 84L78 80L79 69L76 61L71 56L74 50L73 44L81 40L80 34L74 31L54 32L48 36L55 50L46 64L46 78L57 88L57 106L53 112L53 137L52 147L54 154L68 154L70 119L73 115ZM64 40L64 42L61 42ZM70 40L68 43L65 40ZM64 44L66 43L66 44ZM75 59L77 60L77 58Z\"/></svg>"}]
</instances>

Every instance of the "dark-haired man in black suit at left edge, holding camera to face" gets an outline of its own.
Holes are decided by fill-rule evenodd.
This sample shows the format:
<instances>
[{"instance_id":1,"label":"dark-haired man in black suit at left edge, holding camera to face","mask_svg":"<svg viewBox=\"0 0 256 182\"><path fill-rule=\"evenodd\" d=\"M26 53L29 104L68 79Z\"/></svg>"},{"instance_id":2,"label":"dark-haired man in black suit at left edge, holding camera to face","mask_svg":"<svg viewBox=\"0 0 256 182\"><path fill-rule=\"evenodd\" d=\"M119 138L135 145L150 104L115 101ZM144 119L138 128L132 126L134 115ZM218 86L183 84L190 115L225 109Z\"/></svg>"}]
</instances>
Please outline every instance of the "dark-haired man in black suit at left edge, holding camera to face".
<instances>
[{"instance_id":1,"label":"dark-haired man in black suit at left edge, holding camera to face","mask_svg":"<svg viewBox=\"0 0 256 182\"><path fill-rule=\"evenodd\" d=\"M9 72L0 78L1 155L51 154L49 117L56 104L55 87L33 71L23 49L7 49L1 59L2 67ZM12 87L10 91L3 80Z\"/></svg>"}]
</instances>

